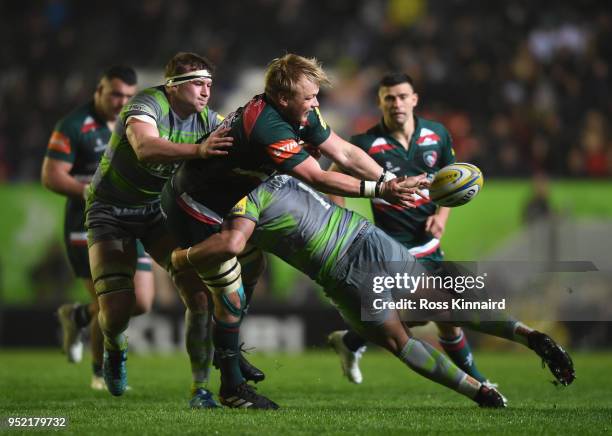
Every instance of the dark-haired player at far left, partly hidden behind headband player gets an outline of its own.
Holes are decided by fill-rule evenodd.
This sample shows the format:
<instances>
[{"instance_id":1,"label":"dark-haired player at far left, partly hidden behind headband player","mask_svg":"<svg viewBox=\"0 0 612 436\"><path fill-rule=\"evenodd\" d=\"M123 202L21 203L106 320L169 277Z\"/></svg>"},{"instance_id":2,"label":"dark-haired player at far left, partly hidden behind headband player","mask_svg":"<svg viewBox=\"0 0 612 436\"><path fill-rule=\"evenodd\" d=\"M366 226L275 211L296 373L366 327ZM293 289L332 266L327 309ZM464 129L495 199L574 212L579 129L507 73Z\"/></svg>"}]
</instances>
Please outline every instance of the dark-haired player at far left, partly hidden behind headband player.
<instances>
[{"instance_id":1,"label":"dark-haired player at far left, partly hidden behind headband player","mask_svg":"<svg viewBox=\"0 0 612 436\"><path fill-rule=\"evenodd\" d=\"M62 348L69 362L83 356L81 330L90 326L93 376L91 387L105 389L102 378L102 332L98 324L98 302L89 271L85 231L85 192L123 105L136 92L132 68L114 66L104 72L93 100L75 109L56 124L42 165L43 185L66 197L64 243L76 277L83 281L92 302L64 304L58 310L62 325ZM133 315L147 312L153 303L154 285L151 258L138 242L134 275L136 303ZM93 322L92 322L93 320Z\"/></svg>"}]
</instances>

